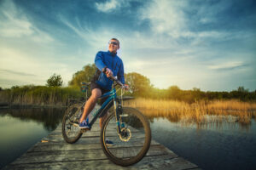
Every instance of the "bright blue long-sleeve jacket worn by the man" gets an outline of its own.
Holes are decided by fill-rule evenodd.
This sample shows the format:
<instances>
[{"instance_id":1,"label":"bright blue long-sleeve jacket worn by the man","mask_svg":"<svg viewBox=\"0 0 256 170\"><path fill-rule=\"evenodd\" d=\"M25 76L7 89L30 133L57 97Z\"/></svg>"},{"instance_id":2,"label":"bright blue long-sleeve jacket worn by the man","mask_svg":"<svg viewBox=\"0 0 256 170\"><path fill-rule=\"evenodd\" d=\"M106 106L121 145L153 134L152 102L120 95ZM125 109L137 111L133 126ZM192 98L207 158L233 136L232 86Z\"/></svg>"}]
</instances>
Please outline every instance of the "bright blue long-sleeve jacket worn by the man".
<instances>
[{"instance_id":1,"label":"bright blue long-sleeve jacket worn by the man","mask_svg":"<svg viewBox=\"0 0 256 170\"><path fill-rule=\"evenodd\" d=\"M95 65L100 71L107 66L107 68L113 72L113 77L118 77L119 81L125 84L123 61L117 54L113 54L109 51L99 51L96 54ZM102 88L110 90L113 81L108 79L108 77L101 72L100 76L96 80L96 83Z\"/></svg>"}]
</instances>

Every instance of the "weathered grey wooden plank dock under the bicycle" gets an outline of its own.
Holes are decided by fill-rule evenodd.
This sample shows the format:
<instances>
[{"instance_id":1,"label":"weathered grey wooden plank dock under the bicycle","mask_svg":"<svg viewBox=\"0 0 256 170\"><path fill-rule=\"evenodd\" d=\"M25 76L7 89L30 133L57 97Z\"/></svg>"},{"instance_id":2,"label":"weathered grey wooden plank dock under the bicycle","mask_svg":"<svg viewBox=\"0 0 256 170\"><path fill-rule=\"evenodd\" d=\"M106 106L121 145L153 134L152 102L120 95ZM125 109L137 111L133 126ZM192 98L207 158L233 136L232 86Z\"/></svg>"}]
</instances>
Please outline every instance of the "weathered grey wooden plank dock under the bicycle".
<instances>
[{"instance_id":1,"label":"weathered grey wooden plank dock under the bicycle","mask_svg":"<svg viewBox=\"0 0 256 170\"><path fill-rule=\"evenodd\" d=\"M120 167L108 160L100 144L100 127L95 123L89 132L75 144L67 144L61 135L61 126L49 133L25 154L3 169L200 169L177 156L172 150L152 140L142 161L130 167Z\"/></svg>"}]
</instances>

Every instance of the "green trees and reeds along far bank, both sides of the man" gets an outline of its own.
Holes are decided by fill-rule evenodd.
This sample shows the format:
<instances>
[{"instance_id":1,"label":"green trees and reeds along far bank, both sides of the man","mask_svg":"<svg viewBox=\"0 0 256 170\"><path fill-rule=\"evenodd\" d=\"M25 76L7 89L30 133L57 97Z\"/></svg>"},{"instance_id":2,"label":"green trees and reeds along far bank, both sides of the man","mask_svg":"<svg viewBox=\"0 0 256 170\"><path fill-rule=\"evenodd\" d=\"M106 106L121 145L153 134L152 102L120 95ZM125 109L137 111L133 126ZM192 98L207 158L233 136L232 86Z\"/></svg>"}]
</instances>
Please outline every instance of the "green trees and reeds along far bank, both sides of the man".
<instances>
[{"instance_id":1,"label":"green trees and reeds along far bank, both sides of the man","mask_svg":"<svg viewBox=\"0 0 256 170\"><path fill-rule=\"evenodd\" d=\"M0 88L0 102L17 105L67 105L68 99L79 99L84 96L80 92L80 84L81 82L90 82L95 72L96 65L85 65L83 70L73 74L67 88L33 85L14 86L4 90ZM238 87L231 92L203 92L199 88L182 90L177 86L171 86L167 89L154 88L148 77L137 72L125 74L125 83L131 88L131 93L126 95L145 99L174 99L188 103L213 99L256 101L256 90L249 92L248 89L243 87Z\"/></svg>"}]
</instances>

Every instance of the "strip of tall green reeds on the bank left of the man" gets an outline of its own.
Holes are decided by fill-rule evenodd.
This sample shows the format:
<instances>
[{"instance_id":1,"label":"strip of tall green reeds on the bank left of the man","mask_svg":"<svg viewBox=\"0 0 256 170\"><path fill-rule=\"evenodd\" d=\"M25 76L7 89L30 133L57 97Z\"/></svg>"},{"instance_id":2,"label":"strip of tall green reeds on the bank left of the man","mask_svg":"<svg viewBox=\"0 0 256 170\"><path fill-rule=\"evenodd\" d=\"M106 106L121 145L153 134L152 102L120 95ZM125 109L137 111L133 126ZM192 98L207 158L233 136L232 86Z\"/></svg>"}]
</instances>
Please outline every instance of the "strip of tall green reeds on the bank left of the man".
<instances>
[{"instance_id":1,"label":"strip of tall green reeds on the bank left of the man","mask_svg":"<svg viewBox=\"0 0 256 170\"><path fill-rule=\"evenodd\" d=\"M80 99L83 94L76 87L46 87L27 85L0 91L0 103L8 105L68 105L68 99Z\"/></svg>"}]
</instances>

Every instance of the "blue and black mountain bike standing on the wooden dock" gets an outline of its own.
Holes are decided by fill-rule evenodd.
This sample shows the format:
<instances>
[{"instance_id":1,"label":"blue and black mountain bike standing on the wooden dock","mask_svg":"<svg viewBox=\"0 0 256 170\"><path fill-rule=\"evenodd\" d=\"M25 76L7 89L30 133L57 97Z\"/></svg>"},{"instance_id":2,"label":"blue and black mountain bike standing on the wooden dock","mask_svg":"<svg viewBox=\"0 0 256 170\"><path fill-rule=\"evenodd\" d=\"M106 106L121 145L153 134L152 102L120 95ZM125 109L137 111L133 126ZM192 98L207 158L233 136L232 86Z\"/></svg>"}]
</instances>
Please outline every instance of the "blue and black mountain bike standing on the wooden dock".
<instances>
[{"instance_id":1,"label":"blue and black mountain bike standing on the wooden dock","mask_svg":"<svg viewBox=\"0 0 256 170\"><path fill-rule=\"evenodd\" d=\"M101 98L108 97L97 111L91 112L94 115L90 120L90 128L104 111L109 111L113 106L113 112L103 122L100 133L102 150L109 160L120 166L130 166L141 161L147 154L151 142L151 130L148 119L140 111L134 108L122 106L122 91L124 85L115 77L112 90L102 94ZM115 86L119 85L121 97L117 97ZM88 86L88 84L84 84ZM73 144L79 140L83 133L90 130L79 129L79 118L83 113L84 103L77 103L67 108L62 120L62 136L67 143ZM114 145L108 146L106 139L113 141Z\"/></svg>"}]
</instances>

